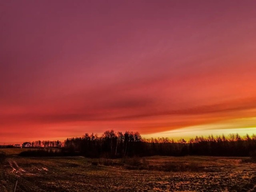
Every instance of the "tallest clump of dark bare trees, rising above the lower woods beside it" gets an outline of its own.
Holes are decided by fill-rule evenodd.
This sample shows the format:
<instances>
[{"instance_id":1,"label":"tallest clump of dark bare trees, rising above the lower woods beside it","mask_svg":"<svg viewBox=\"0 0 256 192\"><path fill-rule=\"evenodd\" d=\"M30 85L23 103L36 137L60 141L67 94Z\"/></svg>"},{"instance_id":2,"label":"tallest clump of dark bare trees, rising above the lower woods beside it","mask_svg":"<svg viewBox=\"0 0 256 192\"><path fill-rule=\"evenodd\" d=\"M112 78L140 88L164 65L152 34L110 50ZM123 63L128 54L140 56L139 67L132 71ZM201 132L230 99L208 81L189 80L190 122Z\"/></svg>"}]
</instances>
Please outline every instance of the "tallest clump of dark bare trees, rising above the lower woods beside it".
<instances>
[{"instance_id":1,"label":"tallest clump of dark bare trees, rising above the lower woods beside it","mask_svg":"<svg viewBox=\"0 0 256 192\"><path fill-rule=\"evenodd\" d=\"M68 138L64 142L64 147L71 151L79 151L88 157L113 158L140 155L142 143L142 137L138 132L126 131L122 134L108 130L102 136L86 133L79 138Z\"/></svg>"}]
</instances>

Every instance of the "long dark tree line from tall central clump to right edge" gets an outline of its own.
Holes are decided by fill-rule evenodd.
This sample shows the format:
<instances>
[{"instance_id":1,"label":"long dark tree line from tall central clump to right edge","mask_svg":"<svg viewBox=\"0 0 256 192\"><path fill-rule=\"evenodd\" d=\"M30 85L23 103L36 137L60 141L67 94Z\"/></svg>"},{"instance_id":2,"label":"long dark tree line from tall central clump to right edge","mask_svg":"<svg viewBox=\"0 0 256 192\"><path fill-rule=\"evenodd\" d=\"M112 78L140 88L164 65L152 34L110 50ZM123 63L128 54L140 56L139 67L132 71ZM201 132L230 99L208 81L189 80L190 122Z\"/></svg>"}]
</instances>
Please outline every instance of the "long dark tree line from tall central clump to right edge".
<instances>
[{"instance_id":1,"label":"long dark tree line from tall central clump to right edge","mask_svg":"<svg viewBox=\"0 0 256 192\"><path fill-rule=\"evenodd\" d=\"M101 136L84 134L82 137L67 138L64 149L79 152L87 157L120 158L123 156L249 156L256 150L256 135L241 137L239 134L228 136L196 136L188 141L181 138L142 139L138 132L105 131Z\"/></svg>"}]
</instances>

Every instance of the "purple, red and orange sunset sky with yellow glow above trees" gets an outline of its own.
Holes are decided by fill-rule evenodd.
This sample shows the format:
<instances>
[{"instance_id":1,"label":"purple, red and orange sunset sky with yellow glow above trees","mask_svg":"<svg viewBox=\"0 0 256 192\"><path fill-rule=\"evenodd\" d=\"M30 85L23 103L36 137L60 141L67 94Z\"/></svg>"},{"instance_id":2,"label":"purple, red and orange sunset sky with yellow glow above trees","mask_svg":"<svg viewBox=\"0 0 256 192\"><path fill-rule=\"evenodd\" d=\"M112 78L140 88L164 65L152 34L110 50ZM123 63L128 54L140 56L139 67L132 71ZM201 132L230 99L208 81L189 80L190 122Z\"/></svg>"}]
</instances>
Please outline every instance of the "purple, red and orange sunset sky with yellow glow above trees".
<instances>
[{"instance_id":1,"label":"purple, red and orange sunset sky with yellow glow above trees","mask_svg":"<svg viewBox=\"0 0 256 192\"><path fill-rule=\"evenodd\" d=\"M256 1L0 1L0 144L256 134Z\"/></svg>"}]
</instances>

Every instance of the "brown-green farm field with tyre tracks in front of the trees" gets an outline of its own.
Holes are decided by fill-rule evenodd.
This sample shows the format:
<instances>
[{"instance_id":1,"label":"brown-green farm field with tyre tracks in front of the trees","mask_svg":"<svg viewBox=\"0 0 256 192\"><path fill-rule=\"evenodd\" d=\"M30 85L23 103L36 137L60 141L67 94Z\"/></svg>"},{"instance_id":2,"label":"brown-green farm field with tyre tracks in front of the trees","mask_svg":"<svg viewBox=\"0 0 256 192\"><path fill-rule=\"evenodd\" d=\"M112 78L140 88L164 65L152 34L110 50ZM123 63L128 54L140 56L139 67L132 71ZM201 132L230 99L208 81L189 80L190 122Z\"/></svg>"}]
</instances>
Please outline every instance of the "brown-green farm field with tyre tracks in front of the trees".
<instances>
[{"instance_id":1,"label":"brown-green farm field with tyre tracks in front of the trees","mask_svg":"<svg viewBox=\"0 0 256 192\"><path fill-rule=\"evenodd\" d=\"M1 192L12 192L17 180L16 192L256 189L256 164L248 158L153 156L122 162L84 157L21 158L16 155L21 150L5 150L8 158L0 168Z\"/></svg>"}]
</instances>

